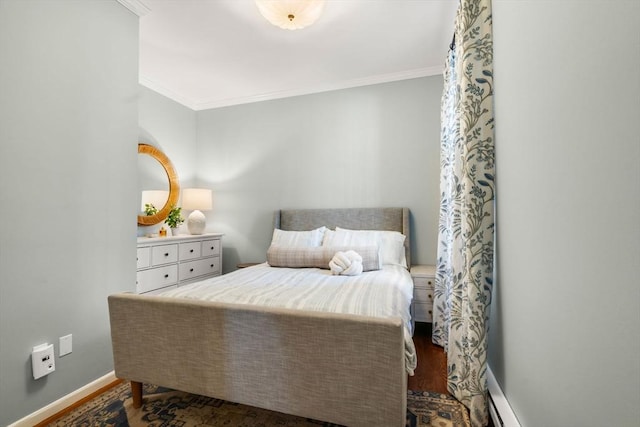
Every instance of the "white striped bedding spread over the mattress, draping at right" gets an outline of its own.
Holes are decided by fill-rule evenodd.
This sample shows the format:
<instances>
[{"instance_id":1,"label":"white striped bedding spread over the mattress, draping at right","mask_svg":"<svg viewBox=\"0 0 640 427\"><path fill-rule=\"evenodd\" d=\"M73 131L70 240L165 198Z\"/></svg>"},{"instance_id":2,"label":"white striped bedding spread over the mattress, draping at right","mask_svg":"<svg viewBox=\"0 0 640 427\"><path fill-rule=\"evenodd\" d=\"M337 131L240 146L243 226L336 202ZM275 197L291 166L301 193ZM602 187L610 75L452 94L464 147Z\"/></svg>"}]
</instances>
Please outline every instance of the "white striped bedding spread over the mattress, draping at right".
<instances>
[{"instance_id":1,"label":"white striped bedding spread over the mattress, draping at right","mask_svg":"<svg viewBox=\"0 0 640 427\"><path fill-rule=\"evenodd\" d=\"M416 367L410 306L413 280L406 268L385 265L357 276L332 275L319 268L275 268L268 264L181 286L160 294L234 304L400 317L404 324L406 369Z\"/></svg>"}]
</instances>

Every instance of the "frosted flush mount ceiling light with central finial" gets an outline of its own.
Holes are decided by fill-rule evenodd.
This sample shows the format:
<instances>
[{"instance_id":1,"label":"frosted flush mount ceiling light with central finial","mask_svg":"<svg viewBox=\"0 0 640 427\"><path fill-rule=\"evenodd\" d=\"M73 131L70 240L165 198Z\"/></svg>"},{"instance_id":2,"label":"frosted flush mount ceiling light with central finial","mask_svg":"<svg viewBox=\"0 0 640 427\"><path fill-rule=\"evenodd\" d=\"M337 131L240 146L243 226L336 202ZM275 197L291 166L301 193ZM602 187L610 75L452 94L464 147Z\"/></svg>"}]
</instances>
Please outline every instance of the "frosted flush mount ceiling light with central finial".
<instances>
[{"instance_id":1,"label":"frosted flush mount ceiling light with central finial","mask_svg":"<svg viewBox=\"0 0 640 427\"><path fill-rule=\"evenodd\" d=\"M262 16L285 30L299 30L316 22L325 0L256 0Z\"/></svg>"}]
</instances>

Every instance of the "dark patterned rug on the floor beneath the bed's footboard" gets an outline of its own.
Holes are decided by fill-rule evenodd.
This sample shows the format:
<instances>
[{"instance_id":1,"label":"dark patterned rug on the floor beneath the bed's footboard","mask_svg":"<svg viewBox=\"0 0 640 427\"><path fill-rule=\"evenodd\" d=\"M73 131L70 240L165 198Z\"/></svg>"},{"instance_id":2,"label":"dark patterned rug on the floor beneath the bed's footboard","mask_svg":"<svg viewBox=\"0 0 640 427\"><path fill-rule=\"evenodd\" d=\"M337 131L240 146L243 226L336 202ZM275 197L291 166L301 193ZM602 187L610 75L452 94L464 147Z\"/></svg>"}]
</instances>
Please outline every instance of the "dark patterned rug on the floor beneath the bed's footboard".
<instances>
[{"instance_id":1,"label":"dark patterned rug on the floor beneath the bed's footboard","mask_svg":"<svg viewBox=\"0 0 640 427\"><path fill-rule=\"evenodd\" d=\"M128 383L76 408L49 426L73 427L338 427L211 397L144 385L142 408L133 409ZM426 391L407 394L407 426L467 427L469 415L454 398ZM380 426L386 427L386 426Z\"/></svg>"}]
</instances>

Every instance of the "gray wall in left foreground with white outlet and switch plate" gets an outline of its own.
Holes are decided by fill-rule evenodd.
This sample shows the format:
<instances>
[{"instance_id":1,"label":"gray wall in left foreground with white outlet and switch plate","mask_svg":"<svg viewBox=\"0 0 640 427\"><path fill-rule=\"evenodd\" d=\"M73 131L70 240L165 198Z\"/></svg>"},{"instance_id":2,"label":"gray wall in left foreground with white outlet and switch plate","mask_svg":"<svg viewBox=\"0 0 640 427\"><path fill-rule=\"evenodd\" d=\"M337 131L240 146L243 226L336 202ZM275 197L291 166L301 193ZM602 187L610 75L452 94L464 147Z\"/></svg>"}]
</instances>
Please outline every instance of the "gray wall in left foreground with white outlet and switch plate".
<instances>
[{"instance_id":1,"label":"gray wall in left foreground with white outlet and switch plate","mask_svg":"<svg viewBox=\"0 0 640 427\"><path fill-rule=\"evenodd\" d=\"M0 1L0 425L113 369L106 298L135 284L137 46L115 1ZM45 342L56 371L36 381Z\"/></svg>"}]
</instances>

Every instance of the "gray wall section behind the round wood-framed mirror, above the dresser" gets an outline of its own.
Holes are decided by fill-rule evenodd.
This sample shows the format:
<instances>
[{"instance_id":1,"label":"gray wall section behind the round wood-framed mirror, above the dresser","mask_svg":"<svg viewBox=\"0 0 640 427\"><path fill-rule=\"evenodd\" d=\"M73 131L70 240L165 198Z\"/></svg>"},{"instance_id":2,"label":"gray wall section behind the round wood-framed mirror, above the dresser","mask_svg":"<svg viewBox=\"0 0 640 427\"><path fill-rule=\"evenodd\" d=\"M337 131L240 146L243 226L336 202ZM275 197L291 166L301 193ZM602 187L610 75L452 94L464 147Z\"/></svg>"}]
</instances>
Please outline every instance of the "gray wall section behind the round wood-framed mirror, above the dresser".
<instances>
[{"instance_id":1,"label":"gray wall section behind the round wood-framed mirror, above the dresser","mask_svg":"<svg viewBox=\"0 0 640 427\"><path fill-rule=\"evenodd\" d=\"M196 112L140 86L138 122L138 140L160 148L169 157L178 174L181 188L194 186L197 179ZM138 235L157 233L161 226L167 228L164 223L139 226ZM180 228L181 233L188 233L186 225L183 224Z\"/></svg>"}]
</instances>

